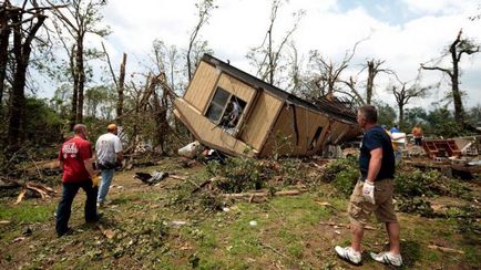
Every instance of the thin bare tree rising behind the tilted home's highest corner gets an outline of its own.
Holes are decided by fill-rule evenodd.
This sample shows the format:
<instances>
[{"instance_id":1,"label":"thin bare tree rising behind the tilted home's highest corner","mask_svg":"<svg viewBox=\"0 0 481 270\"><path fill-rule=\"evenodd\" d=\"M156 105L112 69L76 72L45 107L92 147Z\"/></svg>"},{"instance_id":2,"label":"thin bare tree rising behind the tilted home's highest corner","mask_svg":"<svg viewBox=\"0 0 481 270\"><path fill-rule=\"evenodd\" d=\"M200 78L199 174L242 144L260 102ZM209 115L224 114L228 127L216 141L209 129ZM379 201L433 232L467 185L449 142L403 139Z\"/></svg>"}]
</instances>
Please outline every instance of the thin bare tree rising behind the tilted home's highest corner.
<instances>
[{"instance_id":1,"label":"thin bare tree rising behind the tilted home's highest corner","mask_svg":"<svg viewBox=\"0 0 481 270\"><path fill-rule=\"evenodd\" d=\"M212 10L217 8L217 6L214 4L214 0L199 0L199 2L195 4L195 7L197 8L198 20L197 24L191 33L191 38L188 39L188 49L186 53L188 81L191 81L192 73L195 68L192 63L192 50L197 41L198 32L201 31L202 27L204 27L204 24L208 22Z\"/></svg>"}]
</instances>

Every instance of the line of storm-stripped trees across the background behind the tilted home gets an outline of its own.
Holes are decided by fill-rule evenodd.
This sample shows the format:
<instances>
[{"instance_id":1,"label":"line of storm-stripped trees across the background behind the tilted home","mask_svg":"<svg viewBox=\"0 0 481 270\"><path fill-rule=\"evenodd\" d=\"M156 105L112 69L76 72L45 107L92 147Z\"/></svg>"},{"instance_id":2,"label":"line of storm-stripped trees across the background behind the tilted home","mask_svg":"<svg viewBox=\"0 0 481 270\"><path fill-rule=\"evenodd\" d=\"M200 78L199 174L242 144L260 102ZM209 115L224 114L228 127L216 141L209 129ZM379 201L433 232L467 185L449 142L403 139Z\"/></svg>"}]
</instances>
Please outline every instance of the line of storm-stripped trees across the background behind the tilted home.
<instances>
[{"instance_id":1,"label":"line of storm-stripped trees across the background behind the tilted home","mask_svg":"<svg viewBox=\"0 0 481 270\"><path fill-rule=\"evenodd\" d=\"M358 75L346 75L357 48L366 39L347 50L340 61L314 49L304 64L293 33L306 11L295 12L291 28L279 30L278 11L285 2L272 1L266 34L260 44L250 48L246 54L258 77L313 103L344 96L356 105L377 104L386 124L397 122L405 128L420 122L432 127L433 133L441 131L442 127L436 124L437 115L452 118L460 131L481 121L479 105L465 112L462 103L459 64L463 55L480 50L479 44L462 34L462 30L453 34L451 44L440 44L440 49L447 46L447 50L433 55L436 60L413 68L419 68L415 79L399 79L395 70L387 68L385 60L375 58L366 59ZM185 48L154 40L149 54L151 62L144 70L132 72L131 76L126 76L125 71L127 52L122 59L112 60L103 42L96 46L85 42L93 37L103 40L111 33L102 23L106 3L106 0L23 0L19 4L6 0L0 3L3 155L12 155L25 143L52 143L52 138L59 142L75 123L88 123L95 133L105 123L115 121L129 136L131 149L141 142L151 141L154 148L165 154L170 152L168 147L190 139L185 127L173 117L173 100L188 84L202 55L214 53L208 41L202 39L202 30L217 9L215 1L198 0L195 3L196 22ZM472 20L479 20L479 17ZM439 60L447 58L451 64L441 65ZM453 103L452 116L446 104L432 112L406 108L413 100L437 91L437 85L421 85L422 71L438 71L449 77L451 89L447 101ZM60 85L49 101L35 95L42 83L39 74ZM390 85L378 89L379 76L389 77ZM395 96L398 114L390 105L375 98L379 91Z\"/></svg>"}]
</instances>

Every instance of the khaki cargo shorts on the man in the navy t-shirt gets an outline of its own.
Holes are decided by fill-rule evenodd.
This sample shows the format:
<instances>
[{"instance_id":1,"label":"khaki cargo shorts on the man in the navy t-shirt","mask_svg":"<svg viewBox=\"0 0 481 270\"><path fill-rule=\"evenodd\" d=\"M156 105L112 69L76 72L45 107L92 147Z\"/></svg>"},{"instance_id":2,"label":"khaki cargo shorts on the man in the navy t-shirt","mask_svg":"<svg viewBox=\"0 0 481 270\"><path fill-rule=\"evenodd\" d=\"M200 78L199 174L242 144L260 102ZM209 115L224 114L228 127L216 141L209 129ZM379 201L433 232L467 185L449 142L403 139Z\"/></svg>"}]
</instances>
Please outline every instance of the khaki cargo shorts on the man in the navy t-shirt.
<instances>
[{"instance_id":1,"label":"khaki cargo shorts on the man in the navy t-shirt","mask_svg":"<svg viewBox=\"0 0 481 270\"><path fill-rule=\"evenodd\" d=\"M392 205L392 193L395 190L393 179L382 179L375 181L376 205L367 201L362 197L364 181L358 180L350 196L349 207L347 208L351 224L365 227L372 212L379 222L397 224L398 219Z\"/></svg>"}]
</instances>

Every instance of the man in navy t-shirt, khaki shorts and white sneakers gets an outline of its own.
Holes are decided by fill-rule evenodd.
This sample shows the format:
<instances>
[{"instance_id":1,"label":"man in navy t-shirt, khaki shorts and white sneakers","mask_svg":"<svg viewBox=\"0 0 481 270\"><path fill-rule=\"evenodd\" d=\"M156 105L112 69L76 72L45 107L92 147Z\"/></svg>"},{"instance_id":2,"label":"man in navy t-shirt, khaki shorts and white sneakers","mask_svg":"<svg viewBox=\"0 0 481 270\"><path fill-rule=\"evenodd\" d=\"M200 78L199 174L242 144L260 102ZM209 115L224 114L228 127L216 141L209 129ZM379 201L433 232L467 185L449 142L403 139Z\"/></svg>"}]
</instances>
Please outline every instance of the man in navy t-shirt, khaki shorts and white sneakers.
<instances>
[{"instance_id":1,"label":"man in navy t-shirt, khaki shorts and white sneakers","mask_svg":"<svg viewBox=\"0 0 481 270\"><path fill-rule=\"evenodd\" d=\"M364 228L375 212L378 221L386 224L389 236L389 251L370 253L376 261L399 267L402 264L399 246L399 224L392 205L395 154L391 139L385 129L377 125L377 110L366 105L358 108L357 122L365 131L362 137L358 180L349 200L348 214L352 242L350 247L335 248L337 255L354 264L361 262Z\"/></svg>"}]
</instances>

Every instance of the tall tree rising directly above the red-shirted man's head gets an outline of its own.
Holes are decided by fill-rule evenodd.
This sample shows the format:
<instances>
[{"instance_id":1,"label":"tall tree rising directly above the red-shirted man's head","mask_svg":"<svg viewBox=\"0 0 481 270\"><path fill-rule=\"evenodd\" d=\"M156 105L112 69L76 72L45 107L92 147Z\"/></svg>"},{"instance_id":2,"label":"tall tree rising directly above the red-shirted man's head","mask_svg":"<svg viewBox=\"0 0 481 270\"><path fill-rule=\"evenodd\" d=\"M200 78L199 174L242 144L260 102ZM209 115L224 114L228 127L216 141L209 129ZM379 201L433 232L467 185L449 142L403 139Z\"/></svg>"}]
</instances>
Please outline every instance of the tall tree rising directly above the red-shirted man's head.
<instances>
[{"instance_id":1,"label":"tall tree rising directly above the red-shirted man's head","mask_svg":"<svg viewBox=\"0 0 481 270\"><path fill-rule=\"evenodd\" d=\"M51 3L50 1L48 1ZM108 29L98 28L102 20L100 9L106 4L105 0L60 0L68 4L65 9L53 9L53 14L60 23L55 23L55 30L69 55L70 73L73 79L73 95L70 124L83 121L83 92L85 87L85 48L84 41L88 33L104 37L109 34ZM52 3L51 3L52 4ZM52 4L53 6L53 4ZM63 30L73 39L69 45L62 35Z\"/></svg>"}]
</instances>

